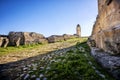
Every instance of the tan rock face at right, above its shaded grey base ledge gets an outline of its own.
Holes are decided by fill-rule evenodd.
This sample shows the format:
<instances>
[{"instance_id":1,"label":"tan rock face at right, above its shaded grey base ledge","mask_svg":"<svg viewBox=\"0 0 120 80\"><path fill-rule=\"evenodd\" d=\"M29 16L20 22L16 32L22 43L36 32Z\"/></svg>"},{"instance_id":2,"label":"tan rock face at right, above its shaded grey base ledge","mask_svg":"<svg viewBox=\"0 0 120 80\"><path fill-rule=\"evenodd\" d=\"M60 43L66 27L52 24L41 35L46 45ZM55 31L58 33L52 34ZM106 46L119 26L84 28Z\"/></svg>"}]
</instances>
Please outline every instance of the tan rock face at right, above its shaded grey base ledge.
<instances>
[{"instance_id":1,"label":"tan rock face at right, above its shaded grey base ledge","mask_svg":"<svg viewBox=\"0 0 120 80\"><path fill-rule=\"evenodd\" d=\"M120 54L120 0L98 0L98 16L90 39L96 47Z\"/></svg>"}]
</instances>

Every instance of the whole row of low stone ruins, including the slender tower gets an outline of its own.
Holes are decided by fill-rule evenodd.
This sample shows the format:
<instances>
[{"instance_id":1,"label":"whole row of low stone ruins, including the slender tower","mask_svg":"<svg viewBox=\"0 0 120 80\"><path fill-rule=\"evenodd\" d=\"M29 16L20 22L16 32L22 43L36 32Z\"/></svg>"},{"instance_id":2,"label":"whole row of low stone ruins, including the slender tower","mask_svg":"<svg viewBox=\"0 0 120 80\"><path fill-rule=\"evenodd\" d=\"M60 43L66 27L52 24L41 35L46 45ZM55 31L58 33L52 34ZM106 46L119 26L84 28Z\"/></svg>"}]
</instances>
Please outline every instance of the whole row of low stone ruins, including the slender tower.
<instances>
[{"instance_id":1,"label":"whole row of low stone ruins, including the slender tower","mask_svg":"<svg viewBox=\"0 0 120 80\"><path fill-rule=\"evenodd\" d=\"M8 35L0 36L0 47L19 46L26 44L36 43L54 43L59 41L66 41L71 38L80 37L80 25L77 25L75 35L63 34L52 35L50 37L44 37L42 34L35 32L9 32Z\"/></svg>"}]
</instances>

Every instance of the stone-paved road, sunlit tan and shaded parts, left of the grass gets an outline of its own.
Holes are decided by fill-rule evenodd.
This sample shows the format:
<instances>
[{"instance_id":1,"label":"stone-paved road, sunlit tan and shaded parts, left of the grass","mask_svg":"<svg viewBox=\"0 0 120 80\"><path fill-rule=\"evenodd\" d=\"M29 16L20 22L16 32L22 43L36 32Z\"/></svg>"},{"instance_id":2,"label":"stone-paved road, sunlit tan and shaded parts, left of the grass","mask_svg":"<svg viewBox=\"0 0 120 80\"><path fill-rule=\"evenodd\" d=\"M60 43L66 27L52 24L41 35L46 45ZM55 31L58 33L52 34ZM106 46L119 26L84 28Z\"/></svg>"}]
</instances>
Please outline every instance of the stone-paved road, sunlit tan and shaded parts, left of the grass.
<instances>
[{"instance_id":1,"label":"stone-paved road, sunlit tan and shaded parts, left of the grass","mask_svg":"<svg viewBox=\"0 0 120 80\"><path fill-rule=\"evenodd\" d=\"M42 59L43 56L56 53L59 51L66 51L76 42L58 42L43 45L31 50L24 50L17 53L10 53L0 57L0 80L16 79L21 72L21 68L29 65L37 60Z\"/></svg>"}]
</instances>

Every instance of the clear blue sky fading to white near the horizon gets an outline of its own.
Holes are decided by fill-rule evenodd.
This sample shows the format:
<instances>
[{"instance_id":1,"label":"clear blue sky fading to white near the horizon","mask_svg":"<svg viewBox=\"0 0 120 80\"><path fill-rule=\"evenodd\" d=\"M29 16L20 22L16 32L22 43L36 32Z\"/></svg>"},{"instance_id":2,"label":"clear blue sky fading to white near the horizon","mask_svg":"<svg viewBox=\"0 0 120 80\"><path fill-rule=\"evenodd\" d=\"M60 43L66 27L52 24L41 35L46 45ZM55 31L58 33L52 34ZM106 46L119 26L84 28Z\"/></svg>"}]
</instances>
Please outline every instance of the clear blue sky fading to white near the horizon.
<instances>
[{"instance_id":1,"label":"clear blue sky fading to white near the horizon","mask_svg":"<svg viewBox=\"0 0 120 80\"><path fill-rule=\"evenodd\" d=\"M97 0L0 0L0 34L37 32L44 36L89 36L97 16Z\"/></svg>"}]
</instances>

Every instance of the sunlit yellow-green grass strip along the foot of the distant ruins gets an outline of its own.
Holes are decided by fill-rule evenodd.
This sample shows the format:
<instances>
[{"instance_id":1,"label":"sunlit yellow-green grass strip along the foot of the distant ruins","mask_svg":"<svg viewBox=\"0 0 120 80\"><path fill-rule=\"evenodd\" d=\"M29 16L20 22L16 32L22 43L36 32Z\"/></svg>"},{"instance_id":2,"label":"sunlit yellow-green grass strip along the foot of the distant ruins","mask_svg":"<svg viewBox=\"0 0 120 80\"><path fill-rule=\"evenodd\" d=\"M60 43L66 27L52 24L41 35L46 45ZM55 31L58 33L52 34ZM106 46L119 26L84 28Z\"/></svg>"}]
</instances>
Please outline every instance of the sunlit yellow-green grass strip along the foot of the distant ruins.
<instances>
[{"instance_id":1,"label":"sunlit yellow-green grass strip along the foot of the distant ruins","mask_svg":"<svg viewBox=\"0 0 120 80\"><path fill-rule=\"evenodd\" d=\"M67 41L62 41L62 42L69 42L69 43L74 43L74 42L78 42L78 41L86 41L87 38L73 38L73 39L69 39ZM61 42L56 42L56 43L61 43ZM17 51L24 51L24 50L31 50L37 47L42 47L44 45L48 45L48 44L30 44L30 45L20 45L19 47L15 47L15 46L8 46L7 48L2 48L0 47L0 56L9 54L9 53L14 53Z\"/></svg>"}]
</instances>

